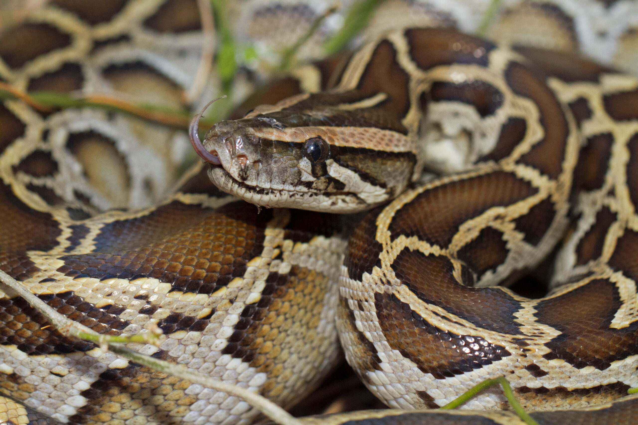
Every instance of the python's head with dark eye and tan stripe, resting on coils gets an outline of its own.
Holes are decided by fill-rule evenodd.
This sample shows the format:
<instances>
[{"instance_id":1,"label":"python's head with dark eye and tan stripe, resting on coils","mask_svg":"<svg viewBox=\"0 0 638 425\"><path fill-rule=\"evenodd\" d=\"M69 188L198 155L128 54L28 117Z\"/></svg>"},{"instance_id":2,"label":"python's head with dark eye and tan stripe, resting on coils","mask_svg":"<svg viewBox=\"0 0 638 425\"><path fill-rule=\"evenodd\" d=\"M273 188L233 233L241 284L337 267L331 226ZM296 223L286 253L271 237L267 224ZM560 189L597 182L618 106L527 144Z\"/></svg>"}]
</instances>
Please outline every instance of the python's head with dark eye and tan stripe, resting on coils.
<instances>
[{"instance_id":1,"label":"python's head with dark eye and tan stripe, resting on coils","mask_svg":"<svg viewBox=\"0 0 638 425\"><path fill-rule=\"evenodd\" d=\"M211 164L212 182L259 206L337 213L367 210L403 191L417 162L412 141L373 124L346 125L357 119L353 111L322 96L263 105L209 129L196 150Z\"/></svg>"}]
</instances>

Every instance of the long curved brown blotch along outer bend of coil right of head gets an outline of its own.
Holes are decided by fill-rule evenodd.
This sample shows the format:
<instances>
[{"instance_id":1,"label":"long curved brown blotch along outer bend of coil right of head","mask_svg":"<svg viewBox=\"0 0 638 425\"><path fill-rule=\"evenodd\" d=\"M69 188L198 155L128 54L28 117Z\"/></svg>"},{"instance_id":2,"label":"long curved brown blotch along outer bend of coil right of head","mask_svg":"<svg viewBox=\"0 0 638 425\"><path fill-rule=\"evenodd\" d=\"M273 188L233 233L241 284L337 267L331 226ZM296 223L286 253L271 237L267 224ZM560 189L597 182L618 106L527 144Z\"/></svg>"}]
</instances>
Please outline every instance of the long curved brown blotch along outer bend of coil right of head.
<instances>
[{"instance_id":1,"label":"long curved brown blotch along outer bend of coil right of head","mask_svg":"<svg viewBox=\"0 0 638 425\"><path fill-rule=\"evenodd\" d=\"M558 99L545 85L544 79L516 62L507 67L505 79L512 91L519 96L528 97L537 104L540 124L545 130L543 140L538 141L519 162L538 168L550 178L557 178L562 171L565 144L569 134L567 119Z\"/></svg>"}]
</instances>

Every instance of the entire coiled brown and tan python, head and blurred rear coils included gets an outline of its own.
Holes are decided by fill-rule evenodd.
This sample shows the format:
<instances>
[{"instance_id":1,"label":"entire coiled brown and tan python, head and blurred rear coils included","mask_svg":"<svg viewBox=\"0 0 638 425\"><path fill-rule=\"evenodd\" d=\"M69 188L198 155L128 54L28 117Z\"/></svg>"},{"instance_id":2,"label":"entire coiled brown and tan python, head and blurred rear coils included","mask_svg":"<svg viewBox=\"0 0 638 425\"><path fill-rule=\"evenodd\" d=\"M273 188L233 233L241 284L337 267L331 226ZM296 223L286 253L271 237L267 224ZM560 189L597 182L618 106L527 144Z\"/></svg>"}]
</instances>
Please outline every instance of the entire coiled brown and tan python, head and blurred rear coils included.
<instances>
[{"instance_id":1,"label":"entire coiled brown and tan python, head and blurred rear coils included","mask_svg":"<svg viewBox=\"0 0 638 425\"><path fill-rule=\"evenodd\" d=\"M1 34L3 82L186 104L195 2L50 3ZM159 326L159 347L129 347L286 407L330 370L340 339L367 387L401 409L308 423L523 423L498 410L499 389L470 410L427 410L501 375L524 408L550 410L531 414L540 424L634 423L638 79L572 51L582 19L568 2L512 6L493 27L500 44L451 28L469 31L461 3L454 15L389 2L429 21L380 20L355 54L306 69L311 83L285 78L260 97L272 104L202 142L191 131L212 164L172 192L185 133L5 100L0 268L98 333ZM634 2L591 4L630 16ZM495 286L550 255L544 298ZM10 291L0 320L3 422L256 417L233 396L66 338Z\"/></svg>"}]
</instances>

